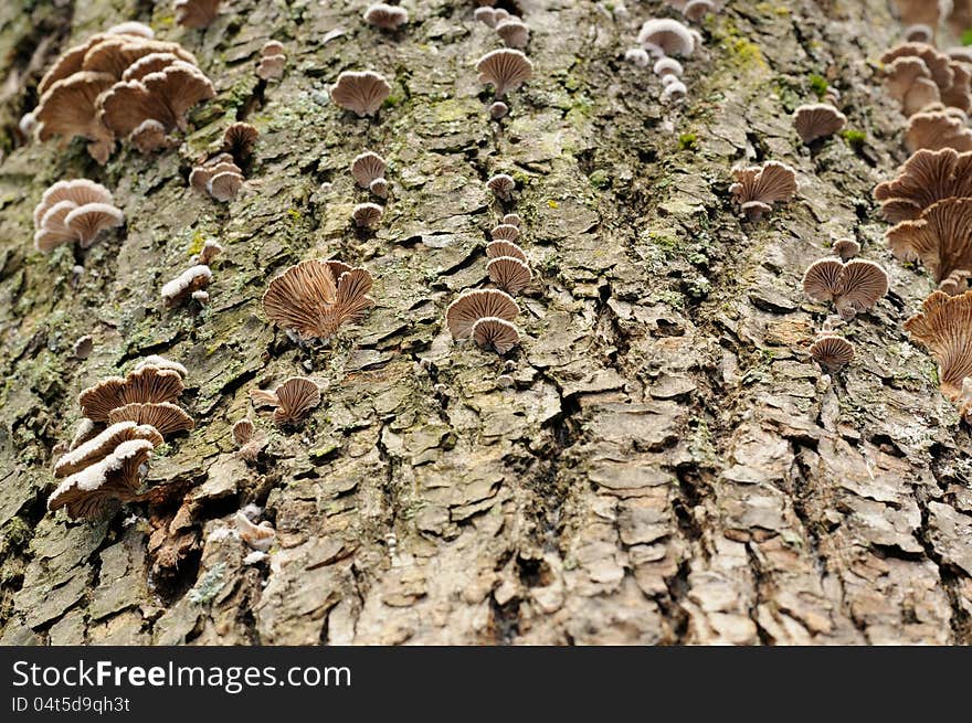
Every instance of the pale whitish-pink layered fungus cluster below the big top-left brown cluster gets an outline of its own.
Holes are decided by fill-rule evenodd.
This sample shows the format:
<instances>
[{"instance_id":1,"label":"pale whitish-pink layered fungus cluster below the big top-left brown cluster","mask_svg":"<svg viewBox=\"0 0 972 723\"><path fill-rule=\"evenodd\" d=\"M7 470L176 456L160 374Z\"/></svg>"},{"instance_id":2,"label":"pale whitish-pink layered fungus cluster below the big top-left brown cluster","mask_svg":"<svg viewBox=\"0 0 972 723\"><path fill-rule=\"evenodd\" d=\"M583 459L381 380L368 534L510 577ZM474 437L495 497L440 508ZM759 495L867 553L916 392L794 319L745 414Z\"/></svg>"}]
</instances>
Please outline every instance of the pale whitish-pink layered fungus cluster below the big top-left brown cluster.
<instances>
[{"instance_id":1,"label":"pale whitish-pink layered fungus cluster below the big top-left brown cluster","mask_svg":"<svg viewBox=\"0 0 972 723\"><path fill-rule=\"evenodd\" d=\"M115 208L112 192L87 179L57 181L34 209L34 247L51 252L77 243L89 247L103 231L120 226L125 214Z\"/></svg>"}]
</instances>

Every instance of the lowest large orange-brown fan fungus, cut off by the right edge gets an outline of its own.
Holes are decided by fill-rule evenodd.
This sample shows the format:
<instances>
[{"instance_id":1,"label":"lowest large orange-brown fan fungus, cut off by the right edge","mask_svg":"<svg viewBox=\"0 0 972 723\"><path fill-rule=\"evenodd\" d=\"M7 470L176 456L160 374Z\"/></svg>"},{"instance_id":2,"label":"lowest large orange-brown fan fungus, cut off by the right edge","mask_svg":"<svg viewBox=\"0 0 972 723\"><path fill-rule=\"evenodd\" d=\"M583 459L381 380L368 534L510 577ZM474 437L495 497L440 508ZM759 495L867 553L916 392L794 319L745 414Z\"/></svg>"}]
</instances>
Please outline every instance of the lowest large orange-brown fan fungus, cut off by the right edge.
<instances>
[{"instance_id":1,"label":"lowest large orange-brown fan fungus, cut off by the right edge","mask_svg":"<svg viewBox=\"0 0 972 723\"><path fill-rule=\"evenodd\" d=\"M972 376L972 291L960 296L932 291L921 311L905 322L905 330L938 362L942 393L958 401L964 380Z\"/></svg>"}]
</instances>

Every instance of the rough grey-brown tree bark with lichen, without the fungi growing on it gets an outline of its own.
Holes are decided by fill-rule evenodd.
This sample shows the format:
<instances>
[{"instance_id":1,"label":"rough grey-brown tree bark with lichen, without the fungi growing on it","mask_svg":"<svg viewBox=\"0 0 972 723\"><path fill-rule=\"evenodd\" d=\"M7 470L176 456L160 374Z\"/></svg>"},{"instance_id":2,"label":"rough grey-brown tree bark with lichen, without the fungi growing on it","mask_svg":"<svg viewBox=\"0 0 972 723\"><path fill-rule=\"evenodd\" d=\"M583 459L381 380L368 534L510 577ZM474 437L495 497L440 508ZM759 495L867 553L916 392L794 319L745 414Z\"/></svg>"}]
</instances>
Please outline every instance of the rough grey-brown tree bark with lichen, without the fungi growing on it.
<instances>
[{"instance_id":1,"label":"rough grey-brown tree bark with lichen, without the fungi growing on it","mask_svg":"<svg viewBox=\"0 0 972 723\"><path fill-rule=\"evenodd\" d=\"M877 73L900 32L886 2L730 2L685 62L688 104L666 109L622 60L659 2L520 0L535 78L503 124L473 68L500 44L472 3L405 0L395 34L364 25L364 4L229 0L200 32L168 2L2 3L0 641L972 642L970 438L901 329L930 280L891 259L870 200L906 158ZM19 143L55 55L129 19L180 40L216 85L182 147L99 168L77 141ZM270 38L289 61L264 86ZM366 68L393 78L374 121L326 93ZM799 143L790 114L815 97L812 74L842 91L862 146ZM235 118L263 135L247 189L221 205L186 179ZM390 161L373 235L348 224L366 148ZM801 184L758 224L728 201L747 159ZM443 323L485 279L499 171L518 180L537 277L507 359ZM108 185L127 225L77 259L36 253L33 206L71 177ZM807 355L827 309L800 278L842 236L891 293L849 325L857 358L827 381ZM165 309L159 288L208 238L226 248L212 304ZM371 270L378 306L330 348L298 349L260 297L330 256ZM94 353L73 359L87 333ZM45 511L77 393L147 353L189 368L197 419L150 468L190 500L163 580L148 546L172 509L101 524ZM295 373L326 382L324 403L296 433L261 418L270 444L247 467L230 435L247 391ZM278 532L255 566L221 532L249 502Z\"/></svg>"}]
</instances>

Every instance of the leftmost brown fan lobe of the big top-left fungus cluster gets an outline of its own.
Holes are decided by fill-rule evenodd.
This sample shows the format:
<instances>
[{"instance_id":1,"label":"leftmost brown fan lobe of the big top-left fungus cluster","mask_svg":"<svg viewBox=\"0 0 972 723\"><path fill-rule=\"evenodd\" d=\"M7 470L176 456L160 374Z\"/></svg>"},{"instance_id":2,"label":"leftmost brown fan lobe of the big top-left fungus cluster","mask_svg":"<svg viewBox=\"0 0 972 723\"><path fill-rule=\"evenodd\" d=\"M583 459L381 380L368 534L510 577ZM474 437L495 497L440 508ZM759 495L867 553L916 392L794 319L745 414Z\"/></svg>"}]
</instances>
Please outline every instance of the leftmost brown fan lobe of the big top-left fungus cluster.
<instances>
[{"instance_id":1,"label":"leftmost brown fan lobe of the big top-left fungus cluster","mask_svg":"<svg viewBox=\"0 0 972 723\"><path fill-rule=\"evenodd\" d=\"M77 72L53 83L41 96L33 115L38 138L53 136L88 139L87 151L104 166L115 148L115 137L98 116L98 98L115 84L107 73Z\"/></svg>"}]
</instances>

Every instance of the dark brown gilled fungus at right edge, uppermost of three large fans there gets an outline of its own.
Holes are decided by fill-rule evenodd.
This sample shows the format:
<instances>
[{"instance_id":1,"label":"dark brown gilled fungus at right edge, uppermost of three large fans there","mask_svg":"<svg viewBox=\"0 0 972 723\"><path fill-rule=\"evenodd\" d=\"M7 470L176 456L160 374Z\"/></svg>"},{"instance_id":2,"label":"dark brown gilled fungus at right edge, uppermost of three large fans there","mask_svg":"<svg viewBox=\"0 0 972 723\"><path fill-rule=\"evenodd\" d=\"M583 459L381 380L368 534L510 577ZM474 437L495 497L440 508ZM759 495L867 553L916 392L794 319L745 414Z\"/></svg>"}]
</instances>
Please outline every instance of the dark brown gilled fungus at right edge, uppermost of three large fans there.
<instances>
[{"instance_id":1,"label":"dark brown gilled fungus at right edge, uppermost of three large fans there","mask_svg":"<svg viewBox=\"0 0 972 723\"><path fill-rule=\"evenodd\" d=\"M953 196L972 196L972 151L919 150L874 190L885 219L895 223L917 219L932 203Z\"/></svg>"}]
</instances>

